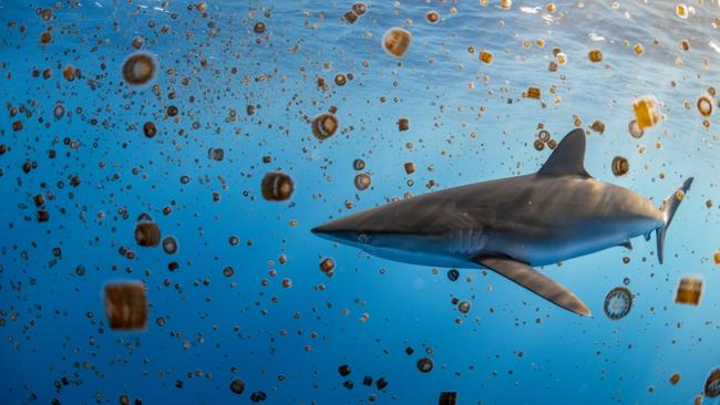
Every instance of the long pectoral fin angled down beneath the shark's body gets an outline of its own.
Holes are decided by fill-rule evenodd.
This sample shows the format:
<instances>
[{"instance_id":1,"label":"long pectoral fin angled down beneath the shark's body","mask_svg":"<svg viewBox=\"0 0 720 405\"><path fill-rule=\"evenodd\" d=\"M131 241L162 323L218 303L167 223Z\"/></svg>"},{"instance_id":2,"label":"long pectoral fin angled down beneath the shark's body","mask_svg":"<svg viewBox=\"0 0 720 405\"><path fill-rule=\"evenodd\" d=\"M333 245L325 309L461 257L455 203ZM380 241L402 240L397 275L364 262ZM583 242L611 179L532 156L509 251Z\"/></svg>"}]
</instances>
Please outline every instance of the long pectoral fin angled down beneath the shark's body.
<instances>
[{"instance_id":1,"label":"long pectoral fin angled down beneath the shark's body","mask_svg":"<svg viewBox=\"0 0 720 405\"><path fill-rule=\"evenodd\" d=\"M590 310L579 298L528 264L510 258L496 257L477 257L473 261L516 282L556 305L578 315L590 315Z\"/></svg>"}]
</instances>

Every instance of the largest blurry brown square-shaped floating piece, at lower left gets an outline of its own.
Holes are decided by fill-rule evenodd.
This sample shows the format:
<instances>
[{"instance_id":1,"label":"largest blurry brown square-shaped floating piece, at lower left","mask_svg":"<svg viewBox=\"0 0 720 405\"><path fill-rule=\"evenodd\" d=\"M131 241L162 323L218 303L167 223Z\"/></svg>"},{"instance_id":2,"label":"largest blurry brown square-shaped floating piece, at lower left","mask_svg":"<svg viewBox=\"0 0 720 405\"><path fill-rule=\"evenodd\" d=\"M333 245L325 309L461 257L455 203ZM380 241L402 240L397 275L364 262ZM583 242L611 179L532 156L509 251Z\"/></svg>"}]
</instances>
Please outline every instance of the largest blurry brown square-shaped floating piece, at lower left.
<instances>
[{"instance_id":1,"label":"largest blurry brown square-shaped floating piece, at lower left","mask_svg":"<svg viewBox=\"0 0 720 405\"><path fill-rule=\"evenodd\" d=\"M105 314L112 330L136 331L147 323L147 298L141 282L105 285Z\"/></svg>"}]
</instances>

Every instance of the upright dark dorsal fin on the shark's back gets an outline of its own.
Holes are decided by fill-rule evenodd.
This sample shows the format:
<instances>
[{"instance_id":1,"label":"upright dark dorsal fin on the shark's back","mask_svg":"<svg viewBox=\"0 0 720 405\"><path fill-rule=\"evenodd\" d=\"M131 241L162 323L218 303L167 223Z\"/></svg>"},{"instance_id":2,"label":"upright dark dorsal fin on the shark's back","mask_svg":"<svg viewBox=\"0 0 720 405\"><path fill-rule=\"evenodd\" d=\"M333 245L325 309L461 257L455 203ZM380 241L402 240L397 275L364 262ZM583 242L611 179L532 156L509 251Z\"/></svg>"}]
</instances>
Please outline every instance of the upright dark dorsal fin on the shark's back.
<instances>
[{"instance_id":1,"label":"upright dark dorsal fin on the shark's back","mask_svg":"<svg viewBox=\"0 0 720 405\"><path fill-rule=\"evenodd\" d=\"M537 174L592 177L585 172L585 131L577 128L565 135Z\"/></svg>"}]
</instances>

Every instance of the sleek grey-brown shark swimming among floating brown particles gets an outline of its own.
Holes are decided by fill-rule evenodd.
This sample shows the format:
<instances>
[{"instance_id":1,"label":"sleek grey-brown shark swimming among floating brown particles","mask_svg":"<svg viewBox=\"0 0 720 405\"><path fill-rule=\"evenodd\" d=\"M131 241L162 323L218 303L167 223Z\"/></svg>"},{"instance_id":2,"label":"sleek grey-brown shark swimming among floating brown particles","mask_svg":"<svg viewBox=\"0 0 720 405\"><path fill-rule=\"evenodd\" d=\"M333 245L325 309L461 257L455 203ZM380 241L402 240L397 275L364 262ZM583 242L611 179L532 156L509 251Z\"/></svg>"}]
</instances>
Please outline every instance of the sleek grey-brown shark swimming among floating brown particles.
<instances>
[{"instance_id":1,"label":"sleek grey-brown shark swimming among floating brown particles","mask_svg":"<svg viewBox=\"0 0 720 405\"><path fill-rule=\"evenodd\" d=\"M567 134L535 174L455 187L391 202L312 232L391 260L486 268L580 315L590 311L534 266L615 246L656 231L662 263L665 233L688 178L660 208L636 193L603 183L584 166L585 133Z\"/></svg>"}]
</instances>

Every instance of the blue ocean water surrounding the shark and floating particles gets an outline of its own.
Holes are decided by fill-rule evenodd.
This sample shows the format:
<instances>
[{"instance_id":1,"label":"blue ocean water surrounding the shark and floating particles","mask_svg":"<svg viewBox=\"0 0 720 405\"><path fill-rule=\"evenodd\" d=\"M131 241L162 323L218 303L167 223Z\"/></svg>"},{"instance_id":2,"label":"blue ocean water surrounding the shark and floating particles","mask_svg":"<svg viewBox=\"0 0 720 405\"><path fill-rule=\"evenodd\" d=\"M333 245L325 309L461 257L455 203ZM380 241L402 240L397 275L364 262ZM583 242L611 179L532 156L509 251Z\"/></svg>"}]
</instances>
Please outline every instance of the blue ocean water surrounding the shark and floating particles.
<instances>
[{"instance_id":1,"label":"blue ocean water surrounding the shark and floating particles","mask_svg":"<svg viewBox=\"0 0 720 405\"><path fill-rule=\"evenodd\" d=\"M720 366L720 123L703 125L696 102L720 85L717 1L688 2L688 18L670 1L553 12L371 1L348 23L352 6L0 0L0 403L244 404L261 392L269 404L438 404L455 392L463 405L691 404L703 393ZM383 50L391 28L412 34L402 58ZM567 62L552 72L554 49ZM137 52L157 63L140 86L123 77ZM338 85L339 73L352 80ZM648 95L664 117L636 138L632 102ZM339 127L321 141L311 123L328 111ZM589 318L492 271L460 269L453 282L448 268L310 232L392 199L534 173L551 154L534 146L541 125L556 141L587 129L588 173L656 205L695 177L664 264L652 237L541 269ZM620 177L616 156L629 162ZM263 197L271 172L292 178L289 199ZM138 246L143 214L176 238L174 255ZM675 303L689 276L703 281L699 305ZM104 287L123 281L146 287L143 330L110 328ZM616 287L634 301L611 320Z\"/></svg>"}]
</instances>

